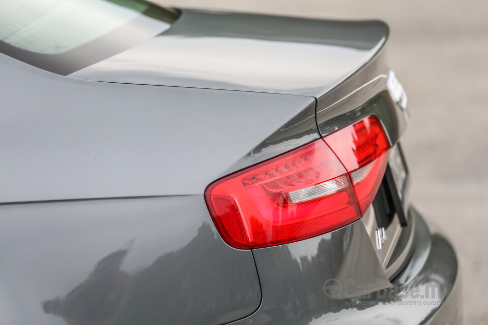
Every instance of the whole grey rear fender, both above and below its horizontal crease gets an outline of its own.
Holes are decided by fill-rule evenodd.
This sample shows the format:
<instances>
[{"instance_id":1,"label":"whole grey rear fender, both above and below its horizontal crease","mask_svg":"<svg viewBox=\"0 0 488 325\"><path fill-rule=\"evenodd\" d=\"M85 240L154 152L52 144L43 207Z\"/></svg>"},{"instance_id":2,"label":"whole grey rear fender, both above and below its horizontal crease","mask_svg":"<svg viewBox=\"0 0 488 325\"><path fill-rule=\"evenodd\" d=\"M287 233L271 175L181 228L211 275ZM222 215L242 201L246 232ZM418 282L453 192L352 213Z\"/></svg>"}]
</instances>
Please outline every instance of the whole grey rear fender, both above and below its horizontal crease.
<instances>
[{"instance_id":1,"label":"whole grey rear fender, both above and below its horizontal crease","mask_svg":"<svg viewBox=\"0 0 488 325\"><path fill-rule=\"evenodd\" d=\"M0 230L9 247L0 254L9 266L0 276L0 323L56 323L59 315L71 323L210 324L259 306L252 254L218 236L203 192L229 172L317 139L313 98L82 81L5 55L0 69ZM151 245L135 250L148 233ZM96 265L131 240L117 263L138 262L94 280ZM136 281L155 268L161 273ZM120 288L117 278L129 284ZM132 295L144 307L127 301ZM95 297L112 297L110 311L95 308Z\"/></svg>"}]
</instances>

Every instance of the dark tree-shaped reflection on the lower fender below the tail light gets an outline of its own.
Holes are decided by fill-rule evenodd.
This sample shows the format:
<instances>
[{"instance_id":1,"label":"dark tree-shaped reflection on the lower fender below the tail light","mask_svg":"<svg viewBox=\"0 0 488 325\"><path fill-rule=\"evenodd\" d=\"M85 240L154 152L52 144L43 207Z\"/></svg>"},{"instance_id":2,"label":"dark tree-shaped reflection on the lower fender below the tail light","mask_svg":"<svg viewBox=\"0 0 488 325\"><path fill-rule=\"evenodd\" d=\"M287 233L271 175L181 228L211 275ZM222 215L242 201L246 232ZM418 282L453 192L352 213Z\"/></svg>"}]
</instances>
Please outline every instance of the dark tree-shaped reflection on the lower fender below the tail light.
<instances>
[{"instance_id":1,"label":"dark tree-shaped reflection on the lower fender below the tail light","mask_svg":"<svg viewBox=\"0 0 488 325\"><path fill-rule=\"evenodd\" d=\"M102 258L64 298L46 300L42 307L68 325L212 324L224 320L235 304L246 315L255 309L247 301L258 298L256 286L229 288L246 276L248 261L204 267L218 265L212 255L221 256L226 249L204 223L188 245L134 274L121 270L130 248L118 250Z\"/></svg>"}]
</instances>

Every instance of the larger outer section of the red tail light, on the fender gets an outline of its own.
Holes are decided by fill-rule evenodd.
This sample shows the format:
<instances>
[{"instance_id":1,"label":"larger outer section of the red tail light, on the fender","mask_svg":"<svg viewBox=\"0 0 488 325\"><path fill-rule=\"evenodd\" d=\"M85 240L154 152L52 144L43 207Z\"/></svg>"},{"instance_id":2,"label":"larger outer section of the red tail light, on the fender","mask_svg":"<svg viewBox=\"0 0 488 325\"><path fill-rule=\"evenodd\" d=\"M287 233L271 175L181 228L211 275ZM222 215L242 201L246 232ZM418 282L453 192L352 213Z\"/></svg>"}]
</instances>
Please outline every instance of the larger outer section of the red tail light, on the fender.
<instances>
[{"instance_id":1,"label":"larger outer section of the red tail light, on the fender","mask_svg":"<svg viewBox=\"0 0 488 325\"><path fill-rule=\"evenodd\" d=\"M237 248L297 241L360 218L347 171L322 140L220 179L205 198Z\"/></svg>"}]
</instances>

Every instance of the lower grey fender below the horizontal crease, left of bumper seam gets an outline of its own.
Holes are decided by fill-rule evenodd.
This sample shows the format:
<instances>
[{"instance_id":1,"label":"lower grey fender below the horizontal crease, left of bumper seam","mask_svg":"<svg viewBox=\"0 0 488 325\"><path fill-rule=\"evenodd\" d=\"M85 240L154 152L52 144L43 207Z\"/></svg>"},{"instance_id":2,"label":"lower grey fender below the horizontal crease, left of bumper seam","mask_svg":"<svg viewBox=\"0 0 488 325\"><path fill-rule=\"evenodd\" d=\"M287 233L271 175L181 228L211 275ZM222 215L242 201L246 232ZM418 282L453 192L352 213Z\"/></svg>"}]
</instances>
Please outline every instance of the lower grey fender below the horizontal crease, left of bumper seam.
<instances>
[{"instance_id":1,"label":"lower grey fender below the horizontal crease, left of bumper seam","mask_svg":"<svg viewBox=\"0 0 488 325\"><path fill-rule=\"evenodd\" d=\"M0 205L0 247L2 324L216 324L260 303L202 196Z\"/></svg>"}]
</instances>

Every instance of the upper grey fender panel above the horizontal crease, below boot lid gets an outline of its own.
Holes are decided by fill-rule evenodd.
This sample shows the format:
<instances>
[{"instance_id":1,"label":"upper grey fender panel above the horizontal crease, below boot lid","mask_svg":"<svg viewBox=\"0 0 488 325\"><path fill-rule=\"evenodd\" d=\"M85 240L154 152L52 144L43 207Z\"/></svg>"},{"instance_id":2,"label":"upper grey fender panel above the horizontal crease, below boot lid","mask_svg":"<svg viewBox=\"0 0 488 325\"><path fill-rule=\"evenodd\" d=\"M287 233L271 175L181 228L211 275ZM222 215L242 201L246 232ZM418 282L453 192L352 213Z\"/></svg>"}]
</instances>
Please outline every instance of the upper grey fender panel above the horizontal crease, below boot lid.
<instances>
[{"instance_id":1,"label":"upper grey fender panel above the horizontal crease, below boot lid","mask_svg":"<svg viewBox=\"0 0 488 325\"><path fill-rule=\"evenodd\" d=\"M319 137L306 96L83 81L5 55L0 69L0 203L203 195Z\"/></svg>"}]
</instances>

